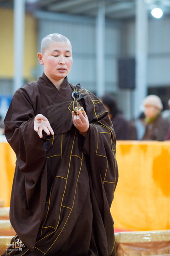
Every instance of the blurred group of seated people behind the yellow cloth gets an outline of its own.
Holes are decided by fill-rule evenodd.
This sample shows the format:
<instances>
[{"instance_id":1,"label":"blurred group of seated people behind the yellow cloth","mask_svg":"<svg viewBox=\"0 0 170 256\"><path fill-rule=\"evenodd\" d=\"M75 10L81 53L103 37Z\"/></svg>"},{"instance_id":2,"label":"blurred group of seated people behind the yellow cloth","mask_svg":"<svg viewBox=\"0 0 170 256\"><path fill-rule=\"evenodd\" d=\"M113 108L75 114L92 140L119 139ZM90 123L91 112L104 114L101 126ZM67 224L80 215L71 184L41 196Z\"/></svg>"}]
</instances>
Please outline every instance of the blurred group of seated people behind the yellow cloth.
<instances>
[{"instance_id":1,"label":"blurred group of seated people behind the yellow cloth","mask_svg":"<svg viewBox=\"0 0 170 256\"><path fill-rule=\"evenodd\" d=\"M105 94L101 100L105 105L113 123L117 140L157 140L170 139L170 100L168 110L163 111L160 97L149 95L144 98L144 111L136 120L127 120L117 102L110 94ZM142 134L138 131L139 123L143 128Z\"/></svg>"}]
</instances>

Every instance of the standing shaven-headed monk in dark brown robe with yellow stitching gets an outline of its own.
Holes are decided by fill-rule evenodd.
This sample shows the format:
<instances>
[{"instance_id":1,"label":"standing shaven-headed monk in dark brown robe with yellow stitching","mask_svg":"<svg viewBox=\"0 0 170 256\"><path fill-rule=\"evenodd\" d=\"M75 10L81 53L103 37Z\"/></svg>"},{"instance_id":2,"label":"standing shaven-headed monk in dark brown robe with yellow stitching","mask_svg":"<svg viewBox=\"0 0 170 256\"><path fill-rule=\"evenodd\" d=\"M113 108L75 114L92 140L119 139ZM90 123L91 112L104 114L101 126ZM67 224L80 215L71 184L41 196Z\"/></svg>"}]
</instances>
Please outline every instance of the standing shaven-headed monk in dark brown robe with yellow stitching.
<instances>
[{"instance_id":1,"label":"standing shaven-headed monk in dark brown robe with yellow stitching","mask_svg":"<svg viewBox=\"0 0 170 256\"><path fill-rule=\"evenodd\" d=\"M19 88L5 117L16 154L3 256L114 256L110 207L118 181L116 138L103 103L67 75L72 45L42 39L44 73Z\"/></svg>"}]
</instances>

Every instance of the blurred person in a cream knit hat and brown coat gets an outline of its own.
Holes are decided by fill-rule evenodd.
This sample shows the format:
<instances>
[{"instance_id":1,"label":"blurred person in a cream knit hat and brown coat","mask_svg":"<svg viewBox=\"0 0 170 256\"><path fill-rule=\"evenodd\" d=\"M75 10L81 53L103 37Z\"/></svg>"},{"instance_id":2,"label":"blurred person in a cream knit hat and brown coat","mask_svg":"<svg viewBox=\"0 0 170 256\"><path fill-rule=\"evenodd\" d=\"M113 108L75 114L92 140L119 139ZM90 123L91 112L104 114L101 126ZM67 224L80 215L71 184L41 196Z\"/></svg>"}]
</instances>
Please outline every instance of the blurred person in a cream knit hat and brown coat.
<instances>
[{"instance_id":1,"label":"blurred person in a cream knit hat and brown coat","mask_svg":"<svg viewBox=\"0 0 170 256\"><path fill-rule=\"evenodd\" d=\"M161 115L163 105L160 97L149 95L144 98L143 105L146 127L142 140L163 141L170 125Z\"/></svg>"}]
</instances>

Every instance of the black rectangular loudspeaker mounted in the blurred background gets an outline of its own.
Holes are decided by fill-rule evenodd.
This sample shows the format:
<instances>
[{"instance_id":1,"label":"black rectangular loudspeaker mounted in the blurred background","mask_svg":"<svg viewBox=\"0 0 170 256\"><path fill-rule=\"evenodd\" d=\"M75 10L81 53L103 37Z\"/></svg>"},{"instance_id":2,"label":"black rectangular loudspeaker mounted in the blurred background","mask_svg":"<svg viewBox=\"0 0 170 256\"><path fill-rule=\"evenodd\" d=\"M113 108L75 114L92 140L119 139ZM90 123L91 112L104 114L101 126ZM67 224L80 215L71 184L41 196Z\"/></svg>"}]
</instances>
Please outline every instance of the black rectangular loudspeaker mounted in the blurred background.
<instances>
[{"instance_id":1,"label":"black rectangular loudspeaker mounted in the blurred background","mask_svg":"<svg viewBox=\"0 0 170 256\"><path fill-rule=\"evenodd\" d=\"M118 59L118 87L120 89L135 88L135 59Z\"/></svg>"}]
</instances>

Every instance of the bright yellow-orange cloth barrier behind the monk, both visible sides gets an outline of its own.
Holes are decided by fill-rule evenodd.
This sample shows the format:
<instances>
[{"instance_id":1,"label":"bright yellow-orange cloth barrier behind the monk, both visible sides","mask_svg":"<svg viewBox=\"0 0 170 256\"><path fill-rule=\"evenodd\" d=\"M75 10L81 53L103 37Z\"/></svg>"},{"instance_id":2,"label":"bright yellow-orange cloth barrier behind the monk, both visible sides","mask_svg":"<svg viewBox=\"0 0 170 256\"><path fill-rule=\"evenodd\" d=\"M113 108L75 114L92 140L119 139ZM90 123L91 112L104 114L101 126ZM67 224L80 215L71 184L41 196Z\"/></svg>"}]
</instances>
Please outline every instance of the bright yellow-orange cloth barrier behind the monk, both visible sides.
<instances>
[{"instance_id":1,"label":"bright yellow-orange cloth barrier behind the monk, both visible sides","mask_svg":"<svg viewBox=\"0 0 170 256\"><path fill-rule=\"evenodd\" d=\"M119 180L111 213L117 229L170 229L170 141L117 141ZM9 206L15 154L0 143L0 199Z\"/></svg>"}]
</instances>

